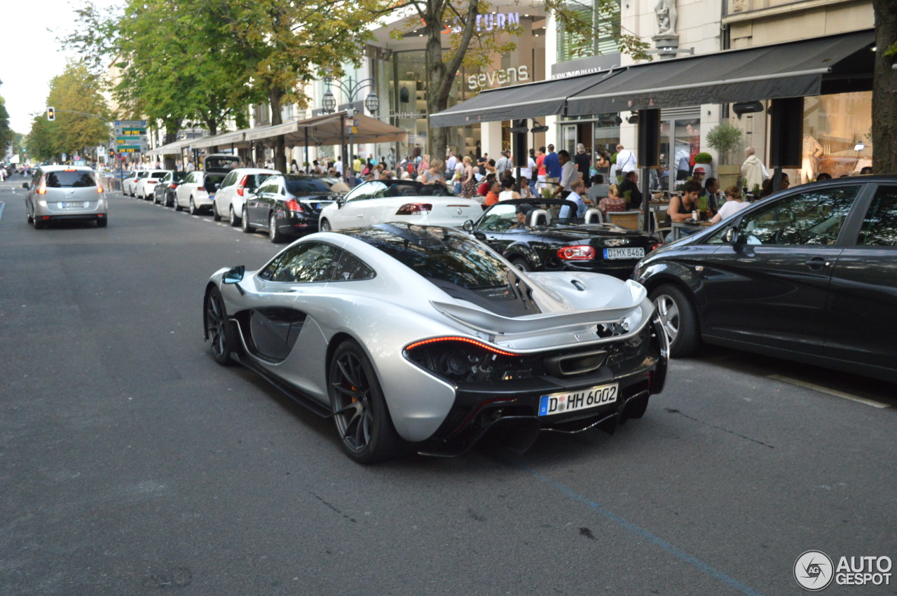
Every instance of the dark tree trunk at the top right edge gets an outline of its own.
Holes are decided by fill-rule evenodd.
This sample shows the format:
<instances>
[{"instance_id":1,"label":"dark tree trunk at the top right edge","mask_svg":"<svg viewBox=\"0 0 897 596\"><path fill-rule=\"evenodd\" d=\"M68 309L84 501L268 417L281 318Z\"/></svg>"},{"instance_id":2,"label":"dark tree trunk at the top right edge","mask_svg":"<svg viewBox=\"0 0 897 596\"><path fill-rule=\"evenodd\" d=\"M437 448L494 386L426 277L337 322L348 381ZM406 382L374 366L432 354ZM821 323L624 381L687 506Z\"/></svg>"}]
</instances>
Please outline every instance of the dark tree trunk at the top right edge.
<instances>
[{"instance_id":1,"label":"dark tree trunk at the top right edge","mask_svg":"<svg viewBox=\"0 0 897 596\"><path fill-rule=\"evenodd\" d=\"M897 91L894 56L884 52L897 43L897 10L893 0L873 0L875 73L872 79L872 166L875 174L897 174Z\"/></svg>"}]
</instances>

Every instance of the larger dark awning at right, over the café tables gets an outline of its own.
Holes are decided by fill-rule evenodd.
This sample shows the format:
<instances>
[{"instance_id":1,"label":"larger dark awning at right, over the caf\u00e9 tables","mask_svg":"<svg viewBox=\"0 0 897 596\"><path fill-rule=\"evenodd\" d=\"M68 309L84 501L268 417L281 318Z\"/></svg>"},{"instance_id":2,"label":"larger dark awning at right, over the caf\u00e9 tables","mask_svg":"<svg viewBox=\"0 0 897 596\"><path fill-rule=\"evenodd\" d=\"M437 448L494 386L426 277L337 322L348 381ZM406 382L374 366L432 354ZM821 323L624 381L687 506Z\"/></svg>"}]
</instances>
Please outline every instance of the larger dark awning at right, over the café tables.
<instances>
[{"instance_id":1,"label":"larger dark awning at right, over the caf\u00e9 tables","mask_svg":"<svg viewBox=\"0 0 897 596\"><path fill-rule=\"evenodd\" d=\"M874 44L862 30L632 65L571 95L566 115L868 90Z\"/></svg>"}]
</instances>

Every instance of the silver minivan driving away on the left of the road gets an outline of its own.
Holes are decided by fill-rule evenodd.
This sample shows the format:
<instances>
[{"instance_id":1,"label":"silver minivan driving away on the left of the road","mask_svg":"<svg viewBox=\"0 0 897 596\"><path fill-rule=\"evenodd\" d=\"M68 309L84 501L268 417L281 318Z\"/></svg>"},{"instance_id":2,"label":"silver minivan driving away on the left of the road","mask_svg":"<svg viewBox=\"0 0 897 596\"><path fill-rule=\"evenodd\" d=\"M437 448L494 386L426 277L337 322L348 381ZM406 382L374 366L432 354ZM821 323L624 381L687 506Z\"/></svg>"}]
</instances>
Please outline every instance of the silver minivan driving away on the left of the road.
<instances>
[{"instance_id":1,"label":"silver minivan driving away on the left of the road","mask_svg":"<svg viewBox=\"0 0 897 596\"><path fill-rule=\"evenodd\" d=\"M97 177L86 166L40 166L22 188L28 222L36 229L55 220L96 221L105 228L109 203Z\"/></svg>"}]
</instances>

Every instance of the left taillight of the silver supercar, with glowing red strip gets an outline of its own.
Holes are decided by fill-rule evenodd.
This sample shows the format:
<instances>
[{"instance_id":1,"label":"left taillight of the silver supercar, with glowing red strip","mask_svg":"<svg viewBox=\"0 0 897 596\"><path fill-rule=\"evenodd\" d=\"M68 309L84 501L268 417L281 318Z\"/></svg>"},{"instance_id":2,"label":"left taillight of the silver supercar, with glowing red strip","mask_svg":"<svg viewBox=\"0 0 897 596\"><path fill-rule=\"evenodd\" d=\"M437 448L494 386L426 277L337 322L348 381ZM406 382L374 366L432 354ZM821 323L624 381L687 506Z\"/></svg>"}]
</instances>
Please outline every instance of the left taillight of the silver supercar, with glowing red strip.
<instances>
[{"instance_id":1,"label":"left taillight of the silver supercar, with glowing red strip","mask_svg":"<svg viewBox=\"0 0 897 596\"><path fill-rule=\"evenodd\" d=\"M451 383L509 381L539 374L520 354L469 337L436 337L405 347L405 357Z\"/></svg>"}]
</instances>

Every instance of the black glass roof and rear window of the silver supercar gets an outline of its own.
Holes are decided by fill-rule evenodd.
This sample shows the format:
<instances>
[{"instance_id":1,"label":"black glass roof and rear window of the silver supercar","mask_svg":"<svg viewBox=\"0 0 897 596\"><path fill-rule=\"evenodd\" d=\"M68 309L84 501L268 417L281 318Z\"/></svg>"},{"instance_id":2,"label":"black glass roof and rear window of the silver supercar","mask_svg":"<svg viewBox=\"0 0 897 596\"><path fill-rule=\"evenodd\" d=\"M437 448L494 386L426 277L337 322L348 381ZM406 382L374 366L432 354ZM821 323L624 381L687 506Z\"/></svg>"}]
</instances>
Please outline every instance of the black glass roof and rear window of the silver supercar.
<instances>
[{"instance_id":1,"label":"black glass roof and rear window of the silver supercar","mask_svg":"<svg viewBox=\"0 0 897 596\"><path fill-rule=\"evenodd\" d=\"M503 316L540 312L516 271L465 234L407 223L381 223L345 233L379 248L452 298Z\"/></svg>"}]
</instances>

